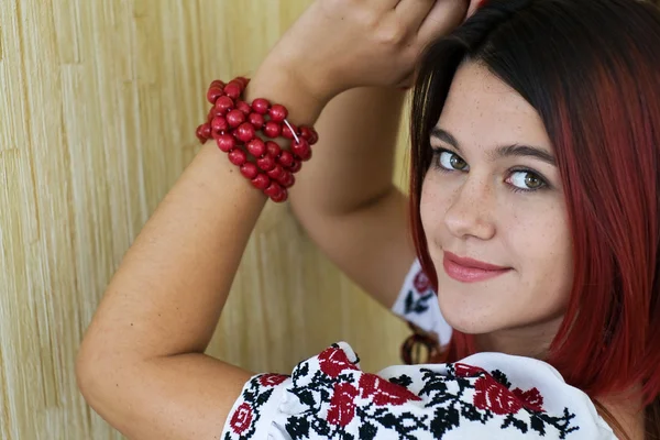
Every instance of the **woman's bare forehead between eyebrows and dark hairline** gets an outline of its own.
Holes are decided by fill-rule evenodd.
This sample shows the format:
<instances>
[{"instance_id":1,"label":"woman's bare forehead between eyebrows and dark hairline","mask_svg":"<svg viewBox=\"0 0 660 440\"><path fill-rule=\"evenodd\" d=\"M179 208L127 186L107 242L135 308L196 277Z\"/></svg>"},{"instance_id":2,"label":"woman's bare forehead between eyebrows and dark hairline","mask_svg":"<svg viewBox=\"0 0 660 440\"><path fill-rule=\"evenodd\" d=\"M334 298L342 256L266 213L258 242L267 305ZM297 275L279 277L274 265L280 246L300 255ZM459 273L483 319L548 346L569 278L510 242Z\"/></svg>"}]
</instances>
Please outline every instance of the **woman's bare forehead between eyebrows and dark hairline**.
<instances>
[{"instance_id":1,"label":"woman's bare forehead between eyebrows and dark hairline","mask_svg":"<svg viewBox=\"0 0 660 440\"><path fill-rule=\"evenodd\" d=\"M550 147L536 109L474 62L463 63L457 70L438 127L468 147L516 143Z\"/></svg>"}]
</instances>

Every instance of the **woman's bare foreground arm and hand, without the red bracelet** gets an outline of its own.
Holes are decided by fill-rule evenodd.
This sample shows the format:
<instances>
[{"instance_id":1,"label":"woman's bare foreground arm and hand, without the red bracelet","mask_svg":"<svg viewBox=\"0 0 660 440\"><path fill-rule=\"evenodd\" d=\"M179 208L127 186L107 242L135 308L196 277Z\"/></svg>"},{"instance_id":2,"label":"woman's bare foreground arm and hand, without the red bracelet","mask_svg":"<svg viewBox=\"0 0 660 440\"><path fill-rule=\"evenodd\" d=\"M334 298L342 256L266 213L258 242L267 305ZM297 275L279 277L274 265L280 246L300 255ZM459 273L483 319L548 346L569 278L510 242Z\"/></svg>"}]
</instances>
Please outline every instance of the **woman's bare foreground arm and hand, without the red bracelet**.
<instances>
[{"instance_id":1,"label":"woman's bare foreground arm and hand, without the red bracelet","mask_svg":"<svg viewBox=\"0 0 660 440\"><path fill-rule=\"evenodd\" d=\"M290 121L312 124L342 91L398 85L420 46L465 9L462 0L318 0L257 69L246 99L283 103ZM205 350L265 202L205 145L127 253L85 336L76 376L89 405L128 438L220 437L252 373Z\"/></svg>"}]
</instances>

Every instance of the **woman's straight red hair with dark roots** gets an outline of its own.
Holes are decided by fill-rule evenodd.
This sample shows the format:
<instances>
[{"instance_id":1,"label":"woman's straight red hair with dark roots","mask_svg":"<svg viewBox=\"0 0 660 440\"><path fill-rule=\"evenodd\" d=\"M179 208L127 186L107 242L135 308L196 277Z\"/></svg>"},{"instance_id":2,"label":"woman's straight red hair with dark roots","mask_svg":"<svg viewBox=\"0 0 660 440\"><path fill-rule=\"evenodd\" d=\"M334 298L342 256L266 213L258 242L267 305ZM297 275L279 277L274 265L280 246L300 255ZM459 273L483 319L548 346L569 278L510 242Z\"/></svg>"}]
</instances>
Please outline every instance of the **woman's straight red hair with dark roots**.
<instances>
[{"instance_id":1,"label":"woman's straight red hair with dark roots","mask_svg":"<svg viewBox=\"0 0 660 440\"><path fill-rule=\"evenodd\" d=\"M428 48L413 105L410 215L436 287L421 185L430 130L465 59L519 92L556 150L574 279L546 361L592 397L641 384L650 404L660 394L660 12L634 0L491 0ZM448 361L473 351L457 331Z\"/></svg>"}]
</instances>

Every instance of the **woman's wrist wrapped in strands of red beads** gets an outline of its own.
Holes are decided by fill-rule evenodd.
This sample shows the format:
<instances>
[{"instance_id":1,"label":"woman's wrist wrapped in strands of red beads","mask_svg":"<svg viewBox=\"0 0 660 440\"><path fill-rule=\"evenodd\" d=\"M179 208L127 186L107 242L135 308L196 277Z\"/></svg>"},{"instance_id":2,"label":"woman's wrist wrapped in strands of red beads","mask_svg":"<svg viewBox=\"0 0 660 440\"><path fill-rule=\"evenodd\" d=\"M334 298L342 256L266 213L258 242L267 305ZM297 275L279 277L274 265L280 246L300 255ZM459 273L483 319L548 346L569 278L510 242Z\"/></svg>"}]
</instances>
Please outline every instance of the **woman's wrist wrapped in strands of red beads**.
<instances>
[{"instance_id":1,"label":"woman's wrist wrapped in strands of red beads","mask_svg":"<svg viewBox=\"0 0 660 440\"><path fill-rule=\"evenodd\" d=\"M207 122L196 133L201 143L213 139L218 148L228 153L229 162L276 202L286 201L287 188L295 184L294 174L311 157L318 134L310 125L323 108L321 99L297 85L287 73L265 64L250 91L248 86L252 82L244 77L227 84L211 81L207 100L212 107ZM304 123L289 122L292 114ZM290 150L268 140L278 138L290 140Z\"/></svg>"}]
</instances>

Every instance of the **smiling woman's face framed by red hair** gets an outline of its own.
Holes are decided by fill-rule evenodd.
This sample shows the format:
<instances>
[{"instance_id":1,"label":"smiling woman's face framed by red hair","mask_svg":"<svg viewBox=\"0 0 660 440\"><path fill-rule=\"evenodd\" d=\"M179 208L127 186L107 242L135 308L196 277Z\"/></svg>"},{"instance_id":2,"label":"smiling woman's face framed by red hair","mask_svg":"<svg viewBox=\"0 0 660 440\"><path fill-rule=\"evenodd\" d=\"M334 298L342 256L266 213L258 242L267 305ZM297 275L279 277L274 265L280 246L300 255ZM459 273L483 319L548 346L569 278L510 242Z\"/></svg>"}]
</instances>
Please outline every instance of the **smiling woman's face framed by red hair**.
<instances>
[{"instance_id":1,"label":"smiling woman's face framed by red hair","mask_svg":"<svg viewBox=\"0 0 660 440\"><path fill-rule=\"evenodd\" d=\"M446 319L465 333L549 342L568 302L572 254L538 113L486 67L465 63L431 147L420 210Z\"/></svg>"}]
</instances>

